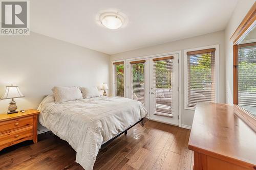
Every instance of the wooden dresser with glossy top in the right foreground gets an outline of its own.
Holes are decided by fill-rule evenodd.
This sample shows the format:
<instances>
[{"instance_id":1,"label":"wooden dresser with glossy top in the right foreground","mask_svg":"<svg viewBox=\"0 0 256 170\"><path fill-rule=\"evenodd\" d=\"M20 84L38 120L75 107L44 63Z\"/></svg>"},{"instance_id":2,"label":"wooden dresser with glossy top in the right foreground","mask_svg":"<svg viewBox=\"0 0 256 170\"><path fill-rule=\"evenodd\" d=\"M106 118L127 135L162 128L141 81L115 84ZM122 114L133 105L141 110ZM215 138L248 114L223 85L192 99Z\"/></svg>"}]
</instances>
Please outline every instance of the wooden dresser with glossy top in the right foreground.
<instances>
[{"instance_id":1,"label":"wooden dresser with glossy top in the right foreground","mask_svg":"<svg viewBox=\"0 0 256 170\"><path fill-rule=\"evenodd\" d=\"M226 104L197 104L188 148L195 170L256 169L256 133Z\"/></svg>"}]
</instances>

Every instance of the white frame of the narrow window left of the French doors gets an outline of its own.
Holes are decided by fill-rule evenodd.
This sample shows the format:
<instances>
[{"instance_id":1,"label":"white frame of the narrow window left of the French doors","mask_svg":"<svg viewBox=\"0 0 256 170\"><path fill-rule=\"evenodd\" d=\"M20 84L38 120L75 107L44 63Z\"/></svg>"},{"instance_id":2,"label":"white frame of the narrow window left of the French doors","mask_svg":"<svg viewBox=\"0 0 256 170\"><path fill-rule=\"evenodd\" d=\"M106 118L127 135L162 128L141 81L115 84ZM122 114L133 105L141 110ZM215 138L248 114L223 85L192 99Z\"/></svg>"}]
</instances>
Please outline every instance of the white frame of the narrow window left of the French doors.
<instances>
[{"instance_id":1,"label":"white frame of the narrow window left of the French doors","mask_svg":"<svg viewBox=\"0 0 256 170\"><path fill-rule=\"evenodd\" d=\"M124 94L124 98L126 98L126 67L125 67L125 60L115 60L115 61L112 61L111 62L111 72L112 72L112 77L111 77L111 86L112 86L112 88L111 88L111 95L112 96L115 96L115 82L114 82L114 80L115 80L115 71L114 71L114 69L113 69L113 63L116 63L116 62L123 62L123 90L124 90L124 92L123 92L123 94Z\"/></svg>"}]
</instances>

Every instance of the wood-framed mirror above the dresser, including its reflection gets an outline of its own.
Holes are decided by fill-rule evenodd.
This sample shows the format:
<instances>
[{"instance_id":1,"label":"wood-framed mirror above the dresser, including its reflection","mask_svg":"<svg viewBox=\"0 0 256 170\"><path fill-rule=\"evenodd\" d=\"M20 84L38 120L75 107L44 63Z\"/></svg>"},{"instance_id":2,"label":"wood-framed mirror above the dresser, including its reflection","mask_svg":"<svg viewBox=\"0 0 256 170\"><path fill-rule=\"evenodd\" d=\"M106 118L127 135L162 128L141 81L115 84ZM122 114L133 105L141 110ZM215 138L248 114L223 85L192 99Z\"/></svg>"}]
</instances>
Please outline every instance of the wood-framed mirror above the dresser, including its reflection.
<instances>
[{"instance_id":1,"label":"wood-framed mirror above the dresser, including its reflection","mask_svg":"<svg viewBox=\"0 0 256 170\"><path fill-rule=\"evenodd\" d=\"M255 3L231 36L233 41L233 104L234 113L256 131L255 117ZM240 56L240 57L239 57ZM248 57L248 58L247 58ZM247 69L249 67L252 70ZM247 79L250 77L250 80ZM249 106L248 106L249 105ZM254 112L252 111L254 108Z\"/></svg>"}]
</instances>

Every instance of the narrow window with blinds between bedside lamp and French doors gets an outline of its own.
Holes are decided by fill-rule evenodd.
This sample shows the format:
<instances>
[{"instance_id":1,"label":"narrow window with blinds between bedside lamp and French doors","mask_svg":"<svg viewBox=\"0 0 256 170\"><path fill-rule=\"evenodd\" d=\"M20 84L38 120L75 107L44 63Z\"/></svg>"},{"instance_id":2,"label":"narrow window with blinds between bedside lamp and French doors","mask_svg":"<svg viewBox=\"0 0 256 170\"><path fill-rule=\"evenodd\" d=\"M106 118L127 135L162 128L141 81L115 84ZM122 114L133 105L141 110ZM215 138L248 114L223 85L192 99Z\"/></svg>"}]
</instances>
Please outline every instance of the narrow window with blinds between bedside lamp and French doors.
<instances>
[{"instance_id":1,"label":"narrow window with blinds between bedside lamp and French doors","mask_svg":"<svg viewBox=\"0 0 256 170\"><path fill-rule=\"evenodd\" d=\"M124 96L124 65L123 61L113 63L115 96Z\"/></svg>"}]
</instances>

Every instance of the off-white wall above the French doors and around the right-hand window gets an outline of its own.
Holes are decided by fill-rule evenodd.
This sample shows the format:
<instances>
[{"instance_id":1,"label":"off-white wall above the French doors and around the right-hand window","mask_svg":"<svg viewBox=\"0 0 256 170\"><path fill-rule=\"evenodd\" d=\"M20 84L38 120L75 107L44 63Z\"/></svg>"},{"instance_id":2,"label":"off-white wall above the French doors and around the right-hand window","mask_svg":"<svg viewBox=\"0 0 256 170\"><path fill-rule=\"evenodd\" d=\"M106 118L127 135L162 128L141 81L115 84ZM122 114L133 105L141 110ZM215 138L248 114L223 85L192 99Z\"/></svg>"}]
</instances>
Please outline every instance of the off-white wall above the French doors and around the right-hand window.
<instances>
[{"instance_id":1,"label":"off-white wall above the French doors and around the right-hand window","mask_svg":"<svg viewBox=\"0 0 256 170\"><path fill-rule=\"evenodd\" d=\"M225 103L225 32L215 32L202 36L197 36L193 38L187 38L179 41L173 41L169 43L164 43L160 45L140 48L138 50L133 50L129 52L119 53L111 55L111 61L135 58L141 56L148 56L154 54L161 54L167 52L181 51L182 53L182 125L191 126L194 117L194 111L184 109L184 66L183 66L183 57L184 50L189 48L202 47L207 45L220 45L220 102Z\"/></svg>"}]
</instances>

